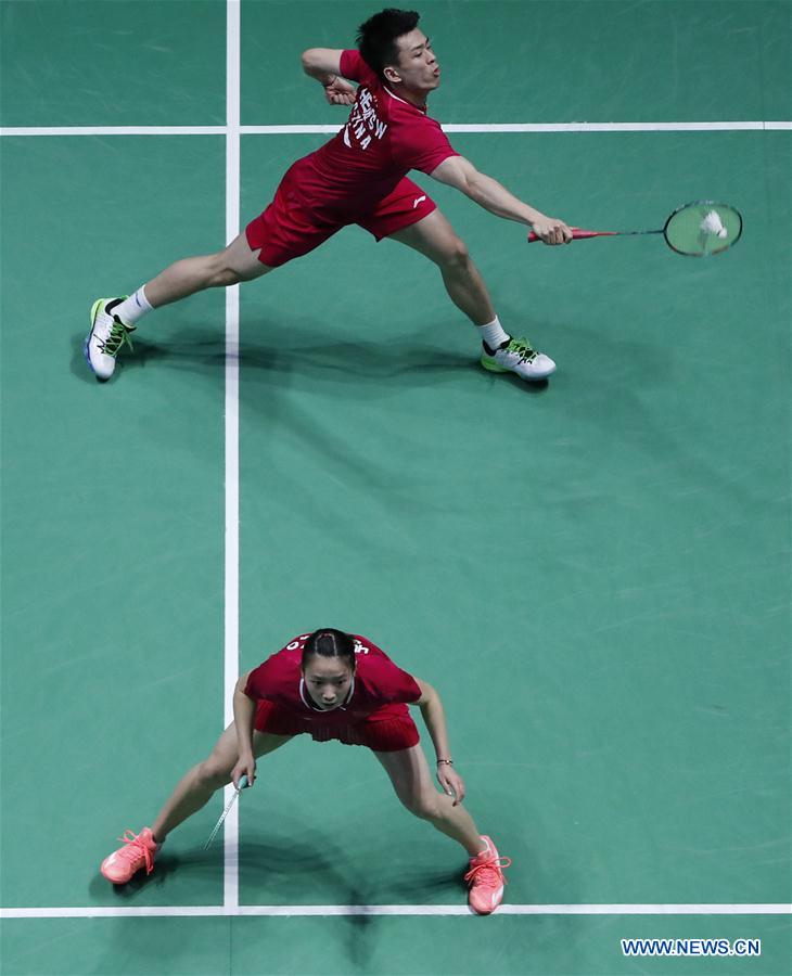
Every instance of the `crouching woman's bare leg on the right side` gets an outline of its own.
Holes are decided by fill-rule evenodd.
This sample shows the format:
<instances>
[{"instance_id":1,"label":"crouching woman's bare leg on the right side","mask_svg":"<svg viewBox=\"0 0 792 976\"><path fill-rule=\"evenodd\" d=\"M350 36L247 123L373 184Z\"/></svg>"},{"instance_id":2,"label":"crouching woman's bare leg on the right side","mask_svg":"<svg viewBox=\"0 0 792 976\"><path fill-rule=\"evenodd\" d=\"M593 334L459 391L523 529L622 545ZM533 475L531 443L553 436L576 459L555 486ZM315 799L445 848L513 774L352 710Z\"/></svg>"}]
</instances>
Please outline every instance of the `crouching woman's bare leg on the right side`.
<instances>
[{"instance_id":1,"label":"crouching woman's bare leg on the right side","mask_svg":"<svg viewBox=\"0 0 792 976\"><path fill-rule=\"evenodd\" d=\"M396 791L396 796L410 813L451 837L474 858L485 846L473 818L462 806L435 788L420 745L397 753L374 753Z\"/></svg>"}]
</instances>

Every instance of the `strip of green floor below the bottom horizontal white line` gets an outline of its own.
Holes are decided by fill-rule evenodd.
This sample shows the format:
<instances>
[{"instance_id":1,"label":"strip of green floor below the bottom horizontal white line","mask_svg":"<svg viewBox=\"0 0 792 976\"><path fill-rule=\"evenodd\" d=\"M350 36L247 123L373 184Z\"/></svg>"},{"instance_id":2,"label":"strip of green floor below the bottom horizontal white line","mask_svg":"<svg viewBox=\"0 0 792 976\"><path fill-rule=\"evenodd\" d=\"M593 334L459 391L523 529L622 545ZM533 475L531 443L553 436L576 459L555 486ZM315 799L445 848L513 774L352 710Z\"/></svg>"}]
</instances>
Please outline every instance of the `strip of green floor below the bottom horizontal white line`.
<instances>
[{"instance_id":1,"label":"strip of green floor below the bottom horizontal white line","mask_svg":"<svg viewBox=\"0 0 792 976\"><path fill-rule=\"evenodd\" d=\"M789 972L789 919L131 919L4 926L3 973L41 976L732 976ZM761 959L624 959L622 938L762 939Z\"/></svg>"}]
</instances>

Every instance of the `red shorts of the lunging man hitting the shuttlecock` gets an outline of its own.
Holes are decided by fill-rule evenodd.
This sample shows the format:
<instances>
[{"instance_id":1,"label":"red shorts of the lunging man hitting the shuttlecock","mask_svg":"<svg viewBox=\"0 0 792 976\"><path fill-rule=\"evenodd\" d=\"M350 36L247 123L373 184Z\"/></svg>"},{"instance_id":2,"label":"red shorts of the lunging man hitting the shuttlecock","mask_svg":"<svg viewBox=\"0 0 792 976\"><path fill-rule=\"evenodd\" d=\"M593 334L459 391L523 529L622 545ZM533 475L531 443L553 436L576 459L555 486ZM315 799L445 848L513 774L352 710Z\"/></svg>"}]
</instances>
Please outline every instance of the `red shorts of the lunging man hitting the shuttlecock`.
<instances>
[{"instance_id":1,"label":"red shorts of the lunging man hitting the shuttlecock","mask_svg":"<svg viewBox=\"0 0 792 976\"><path fill-rule=\"evenodd\" d=\"M297 179L298 175L290 169L281 180L272 203L245 228L247 243L253 251L261 248L258 260L269 268L308 254L348 223L357 223L381 241L437 209L437 204L418 183L404 177L360 220L322 220L304 210L296 202L292 188Z\"/></svg>"}]
</instances>

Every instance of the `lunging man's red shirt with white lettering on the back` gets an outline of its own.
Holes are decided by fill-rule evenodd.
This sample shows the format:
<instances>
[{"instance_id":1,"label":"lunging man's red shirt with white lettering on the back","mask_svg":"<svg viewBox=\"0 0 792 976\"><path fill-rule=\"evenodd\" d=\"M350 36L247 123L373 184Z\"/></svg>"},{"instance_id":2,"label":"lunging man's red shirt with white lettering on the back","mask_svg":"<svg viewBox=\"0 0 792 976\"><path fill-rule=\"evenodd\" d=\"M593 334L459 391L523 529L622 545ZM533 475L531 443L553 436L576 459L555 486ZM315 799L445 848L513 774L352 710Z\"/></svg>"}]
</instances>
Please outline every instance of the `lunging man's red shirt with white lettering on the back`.
<instances>
[{"instance_id":1,"label":"lunging man's red shirt with white lettering on the back","mask_svg":"<svg viewBox=\"0 0 792 976\"><path fill-rule=\"evenodd\" d=\"M349 120L299 160L302 205L346 222L369 213L410 169L431 174L457 156L438 121L386 88L358 51L344 51L341 74L359 87Z\"/></svg>"}]
</instances>

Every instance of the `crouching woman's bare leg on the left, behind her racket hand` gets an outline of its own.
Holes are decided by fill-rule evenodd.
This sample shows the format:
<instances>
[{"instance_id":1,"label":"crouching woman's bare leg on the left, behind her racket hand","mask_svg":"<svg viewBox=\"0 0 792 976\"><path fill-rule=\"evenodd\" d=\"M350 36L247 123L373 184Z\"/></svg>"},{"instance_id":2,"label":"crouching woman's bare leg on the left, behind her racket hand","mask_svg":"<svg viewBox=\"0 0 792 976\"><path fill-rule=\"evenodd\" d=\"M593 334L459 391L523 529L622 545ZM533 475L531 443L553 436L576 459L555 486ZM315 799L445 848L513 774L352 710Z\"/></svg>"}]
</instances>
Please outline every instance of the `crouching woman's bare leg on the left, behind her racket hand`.
<instances>
[{"instance_id":1,"label":"crouching woman's bare leg on the left, behind her racket hand","mask_svg":"<svg viewBox=\"0 0 792 976\"><path fill-rule=\"evenodd\" d=\"M271 735L269 732L256 730L253 733L254 755L258 757L272 753L290 739L291 735ZM174 827L204 807L217 789L231 782L231 770L237 758L237 730L231 722L217 740L208 758L182 776L159 811L152 826L152 834L157 844L162 844Z\"/></svg>"}]
</instances>

